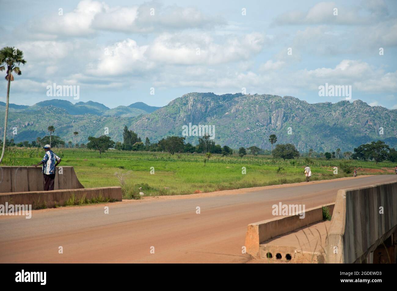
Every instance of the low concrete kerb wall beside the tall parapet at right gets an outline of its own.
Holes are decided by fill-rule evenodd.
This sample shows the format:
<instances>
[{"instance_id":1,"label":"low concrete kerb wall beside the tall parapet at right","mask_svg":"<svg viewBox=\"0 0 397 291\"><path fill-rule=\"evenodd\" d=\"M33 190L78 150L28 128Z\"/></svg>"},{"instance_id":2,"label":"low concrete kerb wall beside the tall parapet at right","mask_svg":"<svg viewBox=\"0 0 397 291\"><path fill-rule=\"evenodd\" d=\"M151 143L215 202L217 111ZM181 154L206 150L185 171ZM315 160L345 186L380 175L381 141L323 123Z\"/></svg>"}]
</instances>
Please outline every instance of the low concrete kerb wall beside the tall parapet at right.
<instances>
[{"instance_id":1,"label":"low concrete kerb wall beside the tall parapet at right","mask_svg":"<svg viewBox=\"0 0 397 291\"><path fill-rule=\"evenodd\" d=\"M326 205L331 215L333 214L334 205L334 203ZM254 257L258 257L259 245L262 242L323 220L322 207L323 206L317 206L306 209L304 218L300 218L301 216L299 215L277 216L272 219L249 224L245 235L247 253Z\"/></svg>"}]
</instances>

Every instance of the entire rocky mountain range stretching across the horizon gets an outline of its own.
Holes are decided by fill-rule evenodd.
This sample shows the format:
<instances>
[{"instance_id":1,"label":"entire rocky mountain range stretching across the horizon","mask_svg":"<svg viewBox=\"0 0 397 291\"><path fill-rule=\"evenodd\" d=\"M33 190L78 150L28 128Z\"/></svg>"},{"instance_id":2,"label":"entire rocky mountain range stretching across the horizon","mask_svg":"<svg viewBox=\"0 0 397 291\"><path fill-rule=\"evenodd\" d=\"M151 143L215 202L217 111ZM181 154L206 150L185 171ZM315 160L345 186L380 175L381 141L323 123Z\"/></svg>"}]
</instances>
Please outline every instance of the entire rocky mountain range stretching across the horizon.
<instances>
[{"instance_id":1,"label":"entire rocky mountain range stretching across the horizon","mask_svg":"<svg viewBox=\"0 0 397 291\"><path fill-rule=\"evenodd\" d=\"M0 118L4 120L4 102ZM383 140L397 147L397 110L369 106L361 100L309 104L292 96L268 94L189 93L164 107L137 102L110 109L98 102L47 100L33 106L10 104L8 138L17 128L14 141L34 141L47 135L54 125L55 135L77 143L87 143L89 136L109 135L122 141L124 125L144 140L156 142L168 135L182 135L183 125L214 125L214 141L233 148L258 146L270 149L268 136L276 134L277 143L293 143L301 152L353 151L354 147ZM0 121L1 122L1 121ZM1 129L0 129L1 130ZM197 143L198 137L186 141Z\"/></svg>"}]
</instances>

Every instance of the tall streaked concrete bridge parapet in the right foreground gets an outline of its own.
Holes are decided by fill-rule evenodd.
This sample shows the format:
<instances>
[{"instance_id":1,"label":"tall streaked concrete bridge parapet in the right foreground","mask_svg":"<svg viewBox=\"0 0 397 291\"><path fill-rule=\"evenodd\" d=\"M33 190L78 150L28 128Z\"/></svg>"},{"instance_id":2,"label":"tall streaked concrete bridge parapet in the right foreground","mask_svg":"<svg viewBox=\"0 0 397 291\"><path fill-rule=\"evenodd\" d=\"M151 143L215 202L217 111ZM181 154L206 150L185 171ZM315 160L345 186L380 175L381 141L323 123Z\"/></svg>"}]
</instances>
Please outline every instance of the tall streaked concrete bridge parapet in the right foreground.
<instances>
[{"instance_id":1,"label":"tall streaked concrete bridge parapet in the right foreground","mask_svg":"<svg viewBox=\"0 0 397 291\"><path fill-rule=\"evenodd\" d=\"M396 229L397 182L339 190L326 247L328 260L360 263Z\"/></svg>"}]
</instances>

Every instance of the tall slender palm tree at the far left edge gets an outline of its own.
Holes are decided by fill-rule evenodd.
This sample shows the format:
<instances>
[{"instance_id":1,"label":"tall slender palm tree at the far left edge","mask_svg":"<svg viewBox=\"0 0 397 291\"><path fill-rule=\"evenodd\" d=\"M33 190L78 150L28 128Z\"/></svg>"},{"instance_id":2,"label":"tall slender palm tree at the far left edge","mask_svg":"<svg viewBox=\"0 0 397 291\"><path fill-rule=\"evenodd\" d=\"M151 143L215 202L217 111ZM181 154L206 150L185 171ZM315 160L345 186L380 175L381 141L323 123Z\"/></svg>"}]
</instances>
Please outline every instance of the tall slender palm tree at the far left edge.
<instances>
[{"instance_id":1,"label":"tall slender palm tree at the far left edge","mask_svg":"<svg viewBox=\"0 0 397 291\"><path fill-rule=\"evenodd\" d=\"M6 116L4 117L4 138L3 138L3 149L1 152L0 163L4 157L4 150L6 149L6 136L7 136L7 121L8 121L8 106L10 104L10 83L14 81L14 76L12 72L16 73L18 76L22 74L19 69L20 64L26 64L23 59L23 52L16 48L6 46L0 50L0 71L4 71L7 66L7 75L4 79L8 81L7 84L7 100L6 100Z\"/></svg>"}]
</instances>

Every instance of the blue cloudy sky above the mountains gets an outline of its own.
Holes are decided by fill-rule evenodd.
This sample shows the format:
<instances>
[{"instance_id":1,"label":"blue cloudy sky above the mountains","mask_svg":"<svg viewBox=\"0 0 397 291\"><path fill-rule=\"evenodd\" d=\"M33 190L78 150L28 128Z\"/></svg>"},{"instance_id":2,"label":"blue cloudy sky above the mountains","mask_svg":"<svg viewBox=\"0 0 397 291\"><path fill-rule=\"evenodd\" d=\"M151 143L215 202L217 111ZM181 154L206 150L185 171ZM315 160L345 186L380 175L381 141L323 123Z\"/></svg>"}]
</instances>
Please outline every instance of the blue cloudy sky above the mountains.
<instances>
[{"instance_id":1,"label":"blue cloudy sky above the mountains","mask_svg":"<svg viewBox=\"0 0 397 291\"><path fill-rule=\"evenodd\" d=\"M190 92L397 109L397 1L0 0L0 48L27 63L10 103L52 98L165 106ZM0 72L4 73L5 72ZM7 83L0 82L5 101ZM79 99L47 86L79 86Z\"/></svg>"}]
</instances>

